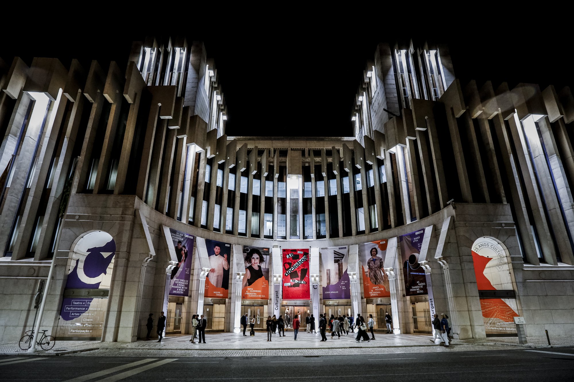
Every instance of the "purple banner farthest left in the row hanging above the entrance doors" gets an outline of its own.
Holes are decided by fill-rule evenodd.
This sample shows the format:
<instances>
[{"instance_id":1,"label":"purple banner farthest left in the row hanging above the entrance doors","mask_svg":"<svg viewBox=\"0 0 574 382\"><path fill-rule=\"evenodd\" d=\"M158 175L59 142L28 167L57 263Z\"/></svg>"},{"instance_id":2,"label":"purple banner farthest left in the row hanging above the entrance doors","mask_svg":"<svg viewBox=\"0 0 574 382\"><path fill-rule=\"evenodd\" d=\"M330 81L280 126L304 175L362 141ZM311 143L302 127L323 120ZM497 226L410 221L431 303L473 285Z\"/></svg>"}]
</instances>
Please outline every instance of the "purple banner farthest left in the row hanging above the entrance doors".
<instances>
[{"instance_id":1,"label":"purple banner farthest left in the row hanging above the entrance doors","mask_svg":"<svg viewBox=\"0 0 574 382\"><path fill-rule=\"evenodd\" d=\"M189 278L191 277L191 258L193 254L193 236L169 229L173 247L176 251L177 266L173 268L169 282L170 296L189 296Z\"/></svg>"}]
</instances>

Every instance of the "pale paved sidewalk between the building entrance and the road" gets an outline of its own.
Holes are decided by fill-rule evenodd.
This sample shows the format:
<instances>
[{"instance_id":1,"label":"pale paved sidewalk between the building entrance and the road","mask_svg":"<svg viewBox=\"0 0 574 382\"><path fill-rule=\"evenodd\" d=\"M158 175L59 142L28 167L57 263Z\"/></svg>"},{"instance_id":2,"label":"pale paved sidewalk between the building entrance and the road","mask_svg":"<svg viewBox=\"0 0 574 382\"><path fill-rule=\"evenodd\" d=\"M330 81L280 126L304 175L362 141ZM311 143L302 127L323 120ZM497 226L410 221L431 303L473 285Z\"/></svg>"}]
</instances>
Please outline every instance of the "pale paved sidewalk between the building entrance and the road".
<instances>
[{"instance_id":1,"label":"pale paved sidewalk between the building entrance and the road","mask_svg":"<svg viewBox=\"0 0 574 382\"><path fill-rule=\"evenodd\" d=\"M254 337L243 337L242 333L206 334L207 344L192 344L189 334L170 335L163 341L137 342L98 342L98 341L57 341L49 351L40 350L35 355L74 356L146 356L146 357L261 357L261 356L328 356L333 354L397 354L419 352L504 350L518 346L548 348L546 337L529 337L529 344L518 344L516 337L495 337L472 340L453 340L445 348L430 343L429 334L383 334L375 333L377 340L355 342L356 333L349 333L340 339L320 342L319 334L300 332L297 341L293 332L286 337L273 335L273 341L266 341L266 333L256 333ZM554 346L574 346L574 336L550 337ZM0 355L32 355L18 348L17 342L0 342Z\"/></svg>"}]
</instances>

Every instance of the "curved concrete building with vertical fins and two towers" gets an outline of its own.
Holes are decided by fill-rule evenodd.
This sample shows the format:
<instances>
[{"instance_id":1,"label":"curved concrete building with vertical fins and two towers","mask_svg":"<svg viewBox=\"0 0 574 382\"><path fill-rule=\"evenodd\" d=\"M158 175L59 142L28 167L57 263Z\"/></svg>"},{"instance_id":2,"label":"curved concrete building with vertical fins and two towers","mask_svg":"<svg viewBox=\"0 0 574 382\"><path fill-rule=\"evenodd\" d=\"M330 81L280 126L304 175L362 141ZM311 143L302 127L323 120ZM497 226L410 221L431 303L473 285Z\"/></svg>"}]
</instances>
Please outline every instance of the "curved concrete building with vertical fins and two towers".
<instances>
[{"instance_id":1,"label":"curved concrete building with vertical fins and two towers","mask_svg":"<svg viewBox=\"0 0 574 382\"><path fill-rule=\"evenodd\" d=\"M38 291L63 339L135 341L160 311L168 333L197 313L574 330L568 87L461 84L447 46L379 44L353 137L229 137L203 44L152 38L125 73L0 60L0 89L2 341Z\"/></svg>"}]
</instances>

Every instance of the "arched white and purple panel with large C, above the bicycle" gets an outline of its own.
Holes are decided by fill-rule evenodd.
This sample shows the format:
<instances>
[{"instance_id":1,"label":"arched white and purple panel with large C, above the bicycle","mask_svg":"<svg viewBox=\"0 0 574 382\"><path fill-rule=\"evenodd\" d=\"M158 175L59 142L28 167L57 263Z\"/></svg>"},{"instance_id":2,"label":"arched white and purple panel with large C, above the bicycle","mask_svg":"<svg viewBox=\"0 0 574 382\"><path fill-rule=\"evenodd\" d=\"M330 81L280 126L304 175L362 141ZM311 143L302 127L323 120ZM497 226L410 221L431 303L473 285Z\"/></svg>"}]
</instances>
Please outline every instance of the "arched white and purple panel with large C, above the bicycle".
<instances>
[{"instance_id":1,"label":"arched white and purple panel with large C, above the bicycle","mask_svg":"<svg viewBox=\"0 0 574 382\"><path fill-rule=\"evenodd\" d=\"M115 241L109 233L94 231L84 235L72 252L65 289L109 290L114 256ZM102 337L106 307L107 298L64 298L56 337L98 340Z\"/></svg>"}]
</instances>

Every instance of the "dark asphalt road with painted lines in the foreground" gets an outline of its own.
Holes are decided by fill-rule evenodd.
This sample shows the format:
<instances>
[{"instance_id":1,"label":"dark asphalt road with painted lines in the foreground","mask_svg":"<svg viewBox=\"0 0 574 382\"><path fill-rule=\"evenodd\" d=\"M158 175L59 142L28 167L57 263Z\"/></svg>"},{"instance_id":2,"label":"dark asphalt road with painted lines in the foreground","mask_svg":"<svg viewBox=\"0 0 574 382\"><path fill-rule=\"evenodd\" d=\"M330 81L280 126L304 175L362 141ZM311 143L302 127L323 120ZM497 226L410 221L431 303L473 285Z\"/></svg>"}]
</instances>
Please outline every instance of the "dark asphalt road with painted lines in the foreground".
<instances>
[{"instance_id":1,"label":"dark asphalt road with painted lines in the foreground","mask_svg":"<svg viewBox=\"0 0 574 382\"><path fill-rule=\"evenodd\" d=\"M0 380L571 380L574 348L321 357L0 357Z\"/></svg>"}]
</instances>

